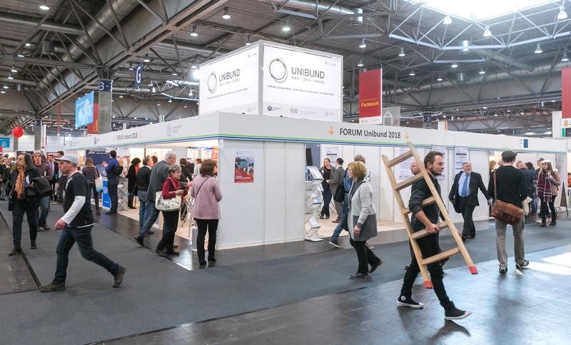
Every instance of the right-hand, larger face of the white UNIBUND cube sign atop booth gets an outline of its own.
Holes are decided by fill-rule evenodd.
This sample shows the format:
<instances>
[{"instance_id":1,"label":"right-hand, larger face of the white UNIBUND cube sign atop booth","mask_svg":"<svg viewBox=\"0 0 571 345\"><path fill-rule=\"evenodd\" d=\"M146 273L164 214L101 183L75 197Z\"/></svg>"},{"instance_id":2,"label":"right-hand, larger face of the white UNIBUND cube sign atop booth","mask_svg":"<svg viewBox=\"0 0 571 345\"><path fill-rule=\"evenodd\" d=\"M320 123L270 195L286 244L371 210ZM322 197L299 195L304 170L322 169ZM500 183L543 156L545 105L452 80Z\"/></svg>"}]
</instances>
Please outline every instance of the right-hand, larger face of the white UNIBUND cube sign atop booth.
<instances>
[{"instance_id":1,"label":"right-hand, larger face of the white UNIBUND cube sign atop booth","mask_svg":"<svg viewBox=\"0 0 571 345\"><path fill-rule=\"evenodd\" d=\"M263 115L341 120L340 58L263 46Z\"/></svg>"}]
</instances>

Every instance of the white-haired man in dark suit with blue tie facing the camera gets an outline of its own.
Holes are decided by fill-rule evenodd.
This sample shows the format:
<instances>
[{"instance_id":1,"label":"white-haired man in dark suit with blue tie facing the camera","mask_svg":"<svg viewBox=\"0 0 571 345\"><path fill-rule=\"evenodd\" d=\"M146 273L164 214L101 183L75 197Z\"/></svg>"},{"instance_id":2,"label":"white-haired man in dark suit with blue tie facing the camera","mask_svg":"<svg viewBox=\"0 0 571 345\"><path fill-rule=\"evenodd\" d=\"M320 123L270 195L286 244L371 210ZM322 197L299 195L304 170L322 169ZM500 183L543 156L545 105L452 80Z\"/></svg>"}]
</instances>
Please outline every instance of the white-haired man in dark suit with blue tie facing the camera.
<instances>
[{"instance_id":1,"label":"white-haired man in dark suit with blue tie facing the camera","mask_svg":"<svg viewBox=\"0 0 571 345\"><path fill-rule=\"evenodd\" d=\"M454 210L462 214L464 218L464 228L462 231L462 240L476 237L476 227L472 215L476 206L480 206L477 200L477 190L480 189L486 200L490 200L487 196L486 187L482 181L482 175L472 171L472 163L462 163L462 172L458 172L454 177L454 183L448 199L453 203ZM491 202L491 201L490 201Z\"/></svg>"}]
</instances>

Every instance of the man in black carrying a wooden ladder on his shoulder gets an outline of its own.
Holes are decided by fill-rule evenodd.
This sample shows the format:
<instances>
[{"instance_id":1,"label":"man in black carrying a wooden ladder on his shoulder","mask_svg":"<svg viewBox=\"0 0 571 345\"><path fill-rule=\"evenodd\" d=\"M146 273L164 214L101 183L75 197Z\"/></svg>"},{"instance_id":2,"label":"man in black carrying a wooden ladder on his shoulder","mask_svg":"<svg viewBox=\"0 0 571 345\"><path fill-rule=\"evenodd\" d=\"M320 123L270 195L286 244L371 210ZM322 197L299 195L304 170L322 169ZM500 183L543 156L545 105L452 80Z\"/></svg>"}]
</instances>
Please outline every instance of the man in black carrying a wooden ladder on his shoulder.
<instances>
[{"instance_id":1,"label":"man in black carrying a wooden ladder on his shoulder","mask_svg":"<svg viewBox=\"0 0 571 345\"><path fill-rule=\"evenodd\" d=\"M424 165L430 175L430 179L440 195L440 185L438 184L438 180L436 180L436 176L441 175L444 170L442 153L430 151L424 158ZM440 232L440 227L438 226L440 210L438 209L438 205L433 203L423 208L423 200L432 196L433 195L430 192L427 182L424 179L420 179L413 184L412 194L408 202L408 208L413 213L413 217L410 221L413 232L426 229L426 232L430 234L416 240L424 258L433 257L441 252L440 245L438 244L438 232ZM440 300L440 305L445 310L445 319L464 319L472 314L472 312L456 308L454 303L448 298L443 283L443 261L445 260L428 264L428 272L430 272L430 279L432 280L434 292ZM400 296L398 297L398 304L401 306L417 309L423 308L422 303L415 302L412 298L413 284L419 272L420 268L418 267L418 262L416 258L413 257L412 262L405 273L403 287L400 289Z\"/></svg>"}]
</instances>

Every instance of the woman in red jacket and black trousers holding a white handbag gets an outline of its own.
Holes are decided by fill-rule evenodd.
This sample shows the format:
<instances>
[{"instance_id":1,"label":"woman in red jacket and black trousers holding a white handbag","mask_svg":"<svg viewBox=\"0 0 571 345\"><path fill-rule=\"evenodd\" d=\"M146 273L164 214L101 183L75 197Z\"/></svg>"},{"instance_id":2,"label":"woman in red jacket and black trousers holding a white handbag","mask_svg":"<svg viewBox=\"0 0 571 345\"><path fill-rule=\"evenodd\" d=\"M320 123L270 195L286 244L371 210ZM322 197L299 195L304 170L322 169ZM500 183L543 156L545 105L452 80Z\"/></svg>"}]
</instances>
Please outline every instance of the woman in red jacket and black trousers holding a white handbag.
<instances>
[{"instance_id":1,"label":"woman in red jacket and black trousers holding a white handbag","mask_svg":"<svg viewBox=\"0 0 571 345\"><path fill-rule=\"evenodd\" d=\"M163 183L162 197L163 199L172 199L177 195L183 197L187 194L187 187L181 187L181 166L173 164L168 167L168 177ZM178 255L179 253L174 250L174 233L178 228L178 212L180 209L173 211L163 211L163 237L158 242L155 252L161 256Z\"/></svg>"}]
</instances>

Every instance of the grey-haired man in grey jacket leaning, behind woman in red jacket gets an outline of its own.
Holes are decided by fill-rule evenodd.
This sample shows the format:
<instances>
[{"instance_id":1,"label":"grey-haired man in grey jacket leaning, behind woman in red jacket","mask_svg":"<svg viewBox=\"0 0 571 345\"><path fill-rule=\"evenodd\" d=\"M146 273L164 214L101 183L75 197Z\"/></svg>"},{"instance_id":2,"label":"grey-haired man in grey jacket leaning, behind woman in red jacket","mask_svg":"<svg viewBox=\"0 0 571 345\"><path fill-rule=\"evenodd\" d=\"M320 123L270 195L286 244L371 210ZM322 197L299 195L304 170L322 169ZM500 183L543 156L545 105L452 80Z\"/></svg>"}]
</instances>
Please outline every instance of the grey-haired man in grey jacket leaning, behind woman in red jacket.
<instances>
[{"instance_id":1,"label":"grey-haired man in grey jacket leaning, behind woman in red jacket","mask_svg":"<svg viewBox=\"0 0 571 345\"><path fill-rule=\"evenodd\" d=\"M151 230L153 224L155 224L158 218L158 210L155 207L155 194L156 192L163 189L163 182L165 182L166 177L168 177L168 167L176 163L176 153L174 151L168 151L165 153L165 159L153 165L151 170L151 180L148 183L146 201L148 201L148 206L151 210L148 212L148 217L145 219L145 223L141 230L139 230L138 235L135 240L138 244L144 247L143 239Z\"/></svg>"}]
</instances>

